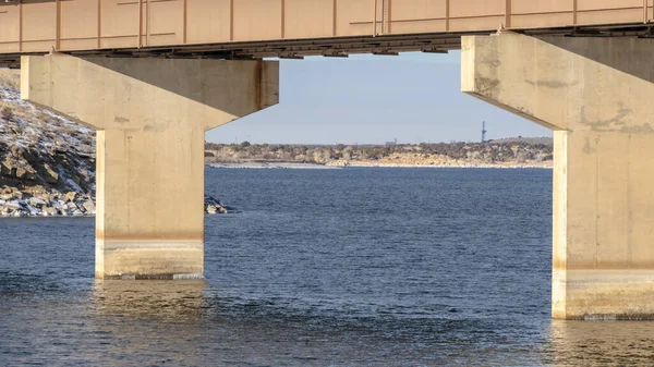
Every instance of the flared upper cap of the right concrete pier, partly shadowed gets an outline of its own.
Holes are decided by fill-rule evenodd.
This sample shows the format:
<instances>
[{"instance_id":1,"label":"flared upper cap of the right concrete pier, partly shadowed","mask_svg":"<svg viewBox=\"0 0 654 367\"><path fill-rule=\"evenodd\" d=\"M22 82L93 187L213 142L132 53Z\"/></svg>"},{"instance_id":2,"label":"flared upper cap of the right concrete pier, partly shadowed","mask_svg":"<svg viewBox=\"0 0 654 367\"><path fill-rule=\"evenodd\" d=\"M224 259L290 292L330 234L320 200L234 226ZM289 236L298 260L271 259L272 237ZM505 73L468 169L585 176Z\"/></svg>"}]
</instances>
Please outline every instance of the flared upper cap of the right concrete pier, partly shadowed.
<instances>
[{"instance_id":1,"label":"flared upper cap of the right concrete pier, partly shadowed","mask_svg":"<svg viewBox=\"0 0 654 367\"><path fill-rule=\"evenodd\" d=\"M654 131L654 39L462 38L461 90L552 130Z\"/></svg>"}]
</instances>

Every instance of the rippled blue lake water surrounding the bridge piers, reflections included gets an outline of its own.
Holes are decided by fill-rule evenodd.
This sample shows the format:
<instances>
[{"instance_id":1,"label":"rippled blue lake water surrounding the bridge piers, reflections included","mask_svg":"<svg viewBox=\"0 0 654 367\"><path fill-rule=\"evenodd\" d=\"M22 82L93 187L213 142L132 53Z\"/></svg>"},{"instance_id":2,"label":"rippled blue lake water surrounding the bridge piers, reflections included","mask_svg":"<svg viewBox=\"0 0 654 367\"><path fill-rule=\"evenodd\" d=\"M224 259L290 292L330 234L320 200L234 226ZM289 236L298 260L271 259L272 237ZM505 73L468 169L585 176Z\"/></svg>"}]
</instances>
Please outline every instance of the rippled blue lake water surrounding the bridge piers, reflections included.
<instances>
[{"instance_id":1,"label":"rippled blue lake water surrounding the bridge piers, reflections included","mask_svg":"<svg viewBox=\"0 0 654 367\"><path fill-rule=\"evenodd\" d=\"M552 171L207 169L205 281L96 281L94 220L0 220L0 366L654 364L549 317ZM166 199L166 198L161 198Z\"/></svg>"}]
</instances>

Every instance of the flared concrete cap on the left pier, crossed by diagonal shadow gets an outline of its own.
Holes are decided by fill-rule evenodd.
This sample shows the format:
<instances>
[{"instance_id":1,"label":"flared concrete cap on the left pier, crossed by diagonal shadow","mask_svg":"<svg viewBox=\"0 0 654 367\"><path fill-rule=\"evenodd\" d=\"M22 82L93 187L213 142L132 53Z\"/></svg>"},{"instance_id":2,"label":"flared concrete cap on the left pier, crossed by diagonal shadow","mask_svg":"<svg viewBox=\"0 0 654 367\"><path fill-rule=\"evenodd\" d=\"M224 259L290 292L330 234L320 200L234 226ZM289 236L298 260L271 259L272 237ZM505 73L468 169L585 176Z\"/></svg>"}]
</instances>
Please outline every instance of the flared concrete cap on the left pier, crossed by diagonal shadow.
<instances>
[{"instance_id":1,"label":"flared concrete cap on the left pier, crossed by diagonal shadow","mask_svg":"<svg viewBox=\"0 0 654 367\"><path fill-rule=\"evenodd\" d=\"M279 102L264 61L23 57L21 96L97 130L210 130Z\"/></svg>"}]
</instances>

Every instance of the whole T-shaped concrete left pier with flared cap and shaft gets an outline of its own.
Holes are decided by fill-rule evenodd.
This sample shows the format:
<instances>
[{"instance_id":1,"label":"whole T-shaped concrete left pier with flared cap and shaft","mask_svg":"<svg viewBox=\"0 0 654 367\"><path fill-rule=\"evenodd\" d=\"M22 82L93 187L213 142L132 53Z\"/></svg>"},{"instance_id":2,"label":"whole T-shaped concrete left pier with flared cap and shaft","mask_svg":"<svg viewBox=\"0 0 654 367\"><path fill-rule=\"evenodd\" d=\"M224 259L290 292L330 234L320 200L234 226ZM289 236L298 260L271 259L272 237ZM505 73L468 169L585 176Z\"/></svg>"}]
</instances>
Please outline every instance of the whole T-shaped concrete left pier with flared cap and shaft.
<instances>
[{"instance_id":1,"label":"whole T-shaped concrete left pier with flared cap and shaft","mask_svg":"<svg viewBox=\"0 0 654 367\"><path fill-rule=\"evenodd\" d=\"M279 100L263 61L23 57L22 98L97 132L96 278L204 271L205 132Z\"/></svg>"}]
</instances>

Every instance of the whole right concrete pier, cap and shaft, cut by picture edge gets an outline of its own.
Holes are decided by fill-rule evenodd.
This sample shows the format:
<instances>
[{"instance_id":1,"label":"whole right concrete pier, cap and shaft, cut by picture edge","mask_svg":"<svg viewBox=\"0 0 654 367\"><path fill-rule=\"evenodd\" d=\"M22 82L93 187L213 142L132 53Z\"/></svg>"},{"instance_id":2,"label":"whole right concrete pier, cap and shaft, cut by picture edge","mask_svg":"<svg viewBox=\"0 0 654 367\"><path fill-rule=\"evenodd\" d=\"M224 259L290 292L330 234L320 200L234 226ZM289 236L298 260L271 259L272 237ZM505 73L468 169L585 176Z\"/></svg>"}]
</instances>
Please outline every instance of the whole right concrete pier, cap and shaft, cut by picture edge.
<instances>
[{"instance_id":1,"label":"whole right concrete pier, cap and shaft, cut by picture edge","mask_svg":"<svg viewBox=\"0 0 654 367\"><path fill-rule=\"evenodd\" d=\"M465 37L462 90L555 131L552 315L654 318L654 40Z\"/></svg>"}]
</instances>

